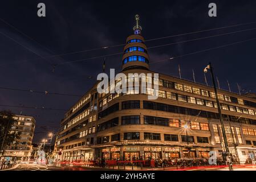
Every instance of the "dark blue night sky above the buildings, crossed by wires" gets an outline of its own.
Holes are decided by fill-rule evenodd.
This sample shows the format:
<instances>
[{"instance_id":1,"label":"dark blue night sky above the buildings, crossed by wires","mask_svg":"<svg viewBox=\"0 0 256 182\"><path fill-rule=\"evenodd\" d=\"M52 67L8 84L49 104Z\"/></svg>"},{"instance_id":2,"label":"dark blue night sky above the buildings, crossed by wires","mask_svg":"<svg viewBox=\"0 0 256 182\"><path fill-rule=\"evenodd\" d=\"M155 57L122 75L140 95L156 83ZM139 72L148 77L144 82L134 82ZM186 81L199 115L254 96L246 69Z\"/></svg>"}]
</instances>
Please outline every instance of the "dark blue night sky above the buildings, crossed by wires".
<instances>
[{"instance_id":1,"label":"dark blue night sky above the buildings, crossed by wires","mask_svg":"<svg viewBox=\"0 0 256 182\"><path fill-rule=\"evenodd\" d=\"M46 17L37 16L39 2L46 4ZM208 16L210 2L217 4L217 17ZM123 51L123 46L80 52L88 49L124 44L133 33L135 14L140 15L144 38L184 34L211 28L256 21L256 1L1 1L0 3L0 78L1 88L15 88L83 95L102 72L103 57L61 64L88 57L109 55ZM145 42L148 47L181 42L233 31L255 28L256 23L220 30L175 36ZM168 57L185 55L225 44L256 38L256 30L238 32L188 43L148 50L150 63ZM222 89L238 92L237 82L244 92L256 92L256 40L211 51L196 53L173 60L152 64L152 71L192 80L192 69L197 82L204 82L202 69L209 61L215 68ZM63 56L52 56L62 55ZM121 56L107 56L105 69L121 70ZM53 66L56 65L53 71ZM91 77L92 76L92 77ZM207 75L209 84L210 75ZM79 97L46 95L0 89L0 105L36 106L69 109ZM34 142L56 132L64 110L25 109L0 106L15 114L32 115L36 119Z\"/></svg>"}]
</instances>

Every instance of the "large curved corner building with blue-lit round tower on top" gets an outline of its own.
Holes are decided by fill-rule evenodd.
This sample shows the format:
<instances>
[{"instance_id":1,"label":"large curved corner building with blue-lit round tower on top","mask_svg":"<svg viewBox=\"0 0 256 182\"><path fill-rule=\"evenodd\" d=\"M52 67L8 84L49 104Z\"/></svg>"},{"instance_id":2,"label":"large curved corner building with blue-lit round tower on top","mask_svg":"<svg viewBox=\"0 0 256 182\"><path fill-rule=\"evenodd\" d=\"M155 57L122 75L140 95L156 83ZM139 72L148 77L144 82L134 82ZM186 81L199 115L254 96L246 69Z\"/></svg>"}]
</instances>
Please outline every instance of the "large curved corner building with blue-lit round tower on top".
<instances>
[{"instance_id":1,"label":"large curved corner building with blue-lit round tower on top","mask_svg":"<svg viewBox=\"0 0 256 182\"><path fill-rule=\"evenodd\" d=\"M133 29L122 73L153 75L141 27ZM148 100L154 90L142 92L141 85L139 92L99 94L97 84L65 114L56 140L55 151L62 150L58 159L202 159L209 151L222 158L224 138L212 86L159 74L159 97ZM217 97L230 152L241 163L255 158L256 99L222 89Z\"/></svg>"}]
</instances>

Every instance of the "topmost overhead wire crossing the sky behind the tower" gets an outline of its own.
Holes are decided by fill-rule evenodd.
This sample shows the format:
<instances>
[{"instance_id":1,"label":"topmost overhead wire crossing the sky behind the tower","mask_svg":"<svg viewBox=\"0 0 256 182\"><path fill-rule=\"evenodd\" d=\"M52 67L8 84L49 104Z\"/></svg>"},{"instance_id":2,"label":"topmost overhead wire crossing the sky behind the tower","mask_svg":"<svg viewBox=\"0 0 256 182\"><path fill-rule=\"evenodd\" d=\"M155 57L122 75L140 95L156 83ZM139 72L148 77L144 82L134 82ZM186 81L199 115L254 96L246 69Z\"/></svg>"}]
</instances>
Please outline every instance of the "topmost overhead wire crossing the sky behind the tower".
<instances>
[{"instance_id":1,"label":"topmost overhead wire crossing the sky behind the tower","mask_svg":"<svg viewBox=\"0 0 256 182\"><path fill-rule=\"evenodd\" d=\"M212 31L212 30L221 30L221 29L224 29L224 28L238 27L238 26L243 26L243 25L253 24L253 23L256 23L256 22L239 23L239 24L234 24L234 25L231 25L231 26L224 26L224 27L218 27L218 28L210 28L210 29L206 29L206 30L187 32L187 33L184 33L184 34L177 34L177 35L171 35L171 36L164 36L164 37L161 37L161 38L147 39L144 42L149 42L149 41L152 41L152 40L166 39L166 38L173 38L173 37L182 36L182 35L197 34L197 33L207 32L207 31ZM58 55L44 56L44 58L47 59L47 58L56 57L56 56L72 55L72 54L76 54L76 53L97 51L97 50L101 50L101 49L108 49L108 48L119 47L119 46L125 46L125 44L116 44L116 45L113 45L113 46L105 46L105 47L92 48L92 49L86 49L86 50L75 51L75 52L67 52L67 53L62 53L62 54L58 54ZM11 63L8 63L8 64L12 64L12 63L15 63L15 62L20 62L20 61L30 61L30 60L39 60L39 59L41 59L41 58L38 58L38 59L27 59L27 60L17 60L17 61L13 61ZM5 65L5 64L1 64L1 65Z\"/></svg>"}]
</instances>

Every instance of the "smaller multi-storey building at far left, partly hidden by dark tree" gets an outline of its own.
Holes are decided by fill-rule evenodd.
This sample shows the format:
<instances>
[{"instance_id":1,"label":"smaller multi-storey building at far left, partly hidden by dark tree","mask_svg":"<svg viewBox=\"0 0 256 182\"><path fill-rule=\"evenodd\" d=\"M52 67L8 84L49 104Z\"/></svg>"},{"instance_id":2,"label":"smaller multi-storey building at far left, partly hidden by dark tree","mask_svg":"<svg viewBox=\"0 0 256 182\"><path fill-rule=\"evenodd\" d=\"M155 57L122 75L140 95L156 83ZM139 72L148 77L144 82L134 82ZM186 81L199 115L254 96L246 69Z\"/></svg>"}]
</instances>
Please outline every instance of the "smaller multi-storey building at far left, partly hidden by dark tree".
<instances>
[{"instance_id":1,"label":"smaller multi-storey building at far left, partly hidden by dark tree","mask_svg":"<svg viewBox=\"0 0 256 182\"><path fill-rule=\"evenodd\" d=\"M10 146L6 147L5 154L1 156L1 158L12 161L29 161L32 152L35 119L27 115L14 115L14 119L16 119L17 122L11 126L10 132L19 133L19 139L16 139Z\"/></svg>"}]
</instances>

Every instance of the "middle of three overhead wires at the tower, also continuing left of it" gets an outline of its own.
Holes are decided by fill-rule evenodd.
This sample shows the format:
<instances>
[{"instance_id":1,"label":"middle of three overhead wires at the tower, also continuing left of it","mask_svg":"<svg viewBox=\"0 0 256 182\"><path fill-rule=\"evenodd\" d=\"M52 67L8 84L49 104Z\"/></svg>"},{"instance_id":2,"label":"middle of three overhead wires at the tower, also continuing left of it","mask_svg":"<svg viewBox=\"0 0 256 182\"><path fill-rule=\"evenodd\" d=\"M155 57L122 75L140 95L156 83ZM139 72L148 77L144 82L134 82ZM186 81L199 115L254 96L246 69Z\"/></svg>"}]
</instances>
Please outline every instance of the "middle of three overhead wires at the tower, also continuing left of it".
<instances>
[{"instance_id":1,"label":"middle of three overhead wires at the tower, also continuing left of it","mask_svg":"<svg viewBox=\"0 0 256 182\"><path fill-rule=\"evenodd\" d=\"M245 31L251 31L251 30L256 30L256 28L248 28L248 29L245 29L245 30L239 30L239 31L234 31L234 32L228 32L228 33L224 33L224 34L217 34L217 35L205 36L205 37L202 37L202 38L184 40L184 41L174 42L174 43L169 43L169 44L162 44L162 45L159 45L159 46L148 47L148 49L158 48L158 47L164 47L164 46L172 46L172 45L174 45L174 44L182 44L182 43L186 43L186 42L193 42L193 41L196 41L196 40L209 39L209 38L214 38L214 37L217 37L217 36L224 36L224 35L236 34L236 33L239 33L239 32L245 32ZM85 61L85 60L90 60L90 59L103 58L103 57L108 57L108 56L121 55L121 54L123 54L123 52L112 53L112 54L109 54L109 55L88 57L88 58L86 58L86 59L78 59L78 60L66 61L66 62L63 62L63 63L59 63L58 65L68 64L68 63L74 63L74 62L79 62L79 61Z\"/></svg>"}]
</instances>

